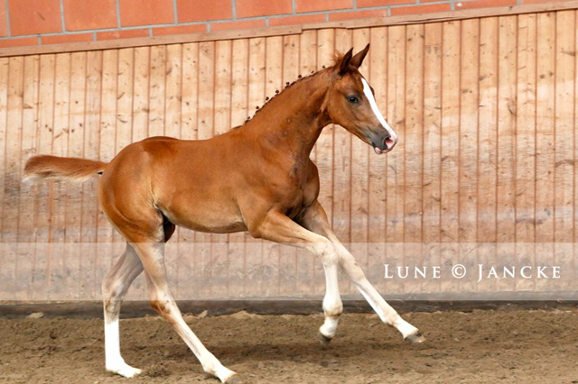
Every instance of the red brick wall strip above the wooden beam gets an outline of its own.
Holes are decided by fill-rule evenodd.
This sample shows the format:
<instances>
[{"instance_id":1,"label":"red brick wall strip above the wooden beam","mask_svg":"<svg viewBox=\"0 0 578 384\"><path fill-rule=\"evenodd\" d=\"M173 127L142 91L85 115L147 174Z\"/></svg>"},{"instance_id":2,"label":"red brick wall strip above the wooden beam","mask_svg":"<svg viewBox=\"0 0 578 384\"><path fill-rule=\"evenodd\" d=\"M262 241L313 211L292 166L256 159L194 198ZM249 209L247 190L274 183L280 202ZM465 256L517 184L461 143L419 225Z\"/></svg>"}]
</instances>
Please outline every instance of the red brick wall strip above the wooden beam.
<instances>
[{"instance_id":1,"label":"red brick wall strip above the wooden beam","mask_svg":"<svg viewBox=\"0 0 578 384\"><path fill-rule=\"evenodd\" d=\"M0 47L266 28L544 0L0 0Z\"/></svg>"}]
</instances>

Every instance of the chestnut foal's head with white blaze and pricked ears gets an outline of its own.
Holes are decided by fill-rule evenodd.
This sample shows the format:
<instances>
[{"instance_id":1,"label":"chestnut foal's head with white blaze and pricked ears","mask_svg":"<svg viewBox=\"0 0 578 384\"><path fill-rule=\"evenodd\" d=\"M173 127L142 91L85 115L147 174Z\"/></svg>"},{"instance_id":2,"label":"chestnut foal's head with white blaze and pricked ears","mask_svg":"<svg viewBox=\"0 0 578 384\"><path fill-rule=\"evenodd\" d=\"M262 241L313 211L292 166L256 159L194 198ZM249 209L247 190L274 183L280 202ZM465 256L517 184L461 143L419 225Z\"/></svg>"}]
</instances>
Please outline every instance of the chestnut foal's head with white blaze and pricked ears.
<instances>
[{"instance_id":1,"label":"chestnut foal's head with white blaze and pricked ears","mask_svg":"<svg viewBox=\"0 0 578 384\"><path fill-rule=\"evenodd\" d=\"M371 144L376 153L386 153L397 143L397 134L378 110L373 88L359 73L369 44L355 56L349 50L336 59L331 69L332 85L326 98L326 111L332 123Z\"/></svg>"}]
</instances>

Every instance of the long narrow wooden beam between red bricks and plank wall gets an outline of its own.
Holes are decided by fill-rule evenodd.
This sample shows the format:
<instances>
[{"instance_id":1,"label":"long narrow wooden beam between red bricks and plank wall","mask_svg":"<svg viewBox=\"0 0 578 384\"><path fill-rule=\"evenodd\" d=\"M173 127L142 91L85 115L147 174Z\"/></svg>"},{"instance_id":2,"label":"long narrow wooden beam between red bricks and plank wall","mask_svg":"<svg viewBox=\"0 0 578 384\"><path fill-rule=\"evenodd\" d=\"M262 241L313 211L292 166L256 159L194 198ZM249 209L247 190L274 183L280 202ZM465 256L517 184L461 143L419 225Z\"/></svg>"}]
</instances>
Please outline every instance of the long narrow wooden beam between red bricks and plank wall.
<instances>
[{"instance_id":1,"label":"long narrow wooden beam between red bricks and plank wall","mask_svg":"<svg viewBox=\"0 0 578 384\"><path fill-rule=\"evenodd\" d=\"M466 9L461 11L438 12L432 14L407 14L372 19L347 20L328 23L309 23L271 28L256 28L250 30L200 32L177 34L169 36L154 36L134 39L118 39L109 41L87 41L62 44L38 45L27 47L0 48L0 57L37 55L43 53L75 52L84 50L114 50L127 47L144 47L153 45L180 44L199 41L222 41L249 39L264 36L283 36L300 34L305 30L320 30L327 28L357 29L388 25L406 25L415 23L439 23L452 20L464 20L479 17L505 16L515 14L535 14L543 12L578 9L578 0L559 0L547 3L511 5L493 8Z\"/></svg>"}]
</instances>

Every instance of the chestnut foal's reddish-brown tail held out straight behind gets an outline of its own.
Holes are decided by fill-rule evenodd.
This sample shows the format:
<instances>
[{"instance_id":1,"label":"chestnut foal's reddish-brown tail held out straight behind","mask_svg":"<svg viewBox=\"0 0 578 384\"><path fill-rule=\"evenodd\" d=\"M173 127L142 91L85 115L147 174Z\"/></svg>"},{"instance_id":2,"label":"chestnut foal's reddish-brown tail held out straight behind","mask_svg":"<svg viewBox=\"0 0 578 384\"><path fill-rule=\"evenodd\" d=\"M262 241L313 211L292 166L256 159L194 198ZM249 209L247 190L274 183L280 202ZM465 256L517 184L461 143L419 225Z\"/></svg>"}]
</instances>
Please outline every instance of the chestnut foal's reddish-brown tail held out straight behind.
<instances>
[{"instance_id":1,"label":"chestnut foal's reddish-brown tail held out straight behind","mask_svg":"<svg viewBox=\"0 0 578 384\"><path fill-rule=\"evenodd\" d=\"M98 173L102 174L107 165L106 162L87 159L33 156L26 161L24 180L53 178L85 181Z\"/></svg>"}]
</instances>

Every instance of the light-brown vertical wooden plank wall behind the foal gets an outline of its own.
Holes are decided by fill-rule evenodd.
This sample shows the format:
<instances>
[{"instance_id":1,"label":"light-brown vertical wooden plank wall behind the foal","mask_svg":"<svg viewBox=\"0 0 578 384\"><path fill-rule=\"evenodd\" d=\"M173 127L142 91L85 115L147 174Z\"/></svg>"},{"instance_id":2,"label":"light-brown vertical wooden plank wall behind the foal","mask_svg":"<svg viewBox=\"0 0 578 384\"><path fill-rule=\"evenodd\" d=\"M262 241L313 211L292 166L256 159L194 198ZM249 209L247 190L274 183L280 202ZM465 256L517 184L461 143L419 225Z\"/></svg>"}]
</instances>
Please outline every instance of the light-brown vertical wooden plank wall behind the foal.
<instances>
[{"instance_id":1,"label":"light-brown vertical wooden plank wall behind the foal","mask_svg":"<svg viewBox=\"0 0 578 384\"><path fill-rule=\"evenodd\" d=\"M149 136L210 138L285 82L330 64L335 50L368 42L361 72L401 141L377 156L340 127L322 133L312 159L342 242L382 293L545 288L536 280L408 288L383 279L383 264L536 262L545 247L575 270L572 244L554 243L578 239L576 18L571 10L0 58L0 298L98 298L122 250L99 212L96 178L23 184L28 157L110 160ZM172 242L180 298L323 292L321 266L300 251L244 233L181 230Z\"/></svg>"}]
</instances>

